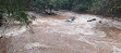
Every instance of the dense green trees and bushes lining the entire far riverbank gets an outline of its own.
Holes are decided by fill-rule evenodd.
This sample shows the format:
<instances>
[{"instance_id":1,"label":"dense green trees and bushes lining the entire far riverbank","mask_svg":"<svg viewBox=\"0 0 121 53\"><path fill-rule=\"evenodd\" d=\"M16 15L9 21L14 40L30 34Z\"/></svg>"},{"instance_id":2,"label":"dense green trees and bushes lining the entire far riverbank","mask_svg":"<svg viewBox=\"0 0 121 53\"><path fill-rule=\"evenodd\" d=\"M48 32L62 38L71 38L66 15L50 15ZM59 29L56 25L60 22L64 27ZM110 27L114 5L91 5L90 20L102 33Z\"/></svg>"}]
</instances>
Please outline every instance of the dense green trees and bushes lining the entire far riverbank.
<instances>
[{"instance_id":1,"label":"dense green trees and bushes lining the entire far riverbank","mask_svg":"<svg viewBox=\"0 0 121 53\"><path fill-rule=\"evenodd\" d=\"M70 10L80 13L117 15L121 14L120 3L121 0L0 0L0 25L4 16L29 24L31 17L25 13L26 11L51 14L51 10Z\"/></svg>"}]
</instances>

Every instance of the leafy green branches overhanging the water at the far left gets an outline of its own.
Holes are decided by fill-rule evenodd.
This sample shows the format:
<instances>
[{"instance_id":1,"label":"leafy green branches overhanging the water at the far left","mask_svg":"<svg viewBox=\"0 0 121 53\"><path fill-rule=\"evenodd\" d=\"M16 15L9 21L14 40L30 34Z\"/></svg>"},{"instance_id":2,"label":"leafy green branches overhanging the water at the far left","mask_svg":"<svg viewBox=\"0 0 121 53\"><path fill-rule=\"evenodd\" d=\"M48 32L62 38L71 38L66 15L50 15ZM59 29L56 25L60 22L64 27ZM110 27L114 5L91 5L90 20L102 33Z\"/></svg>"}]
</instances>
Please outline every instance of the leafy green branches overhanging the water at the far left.
<instances>
[{"instance_id":1,"label":"leafy green branches overhanging the water at the far left","mask_svg":"<svg viewBox=\"0 0 121 53\"><path fill-rule=\"evenodd\" d=\"M27 14L25 13L27 0L0 0L0 22L3 14L8 14L8 18L14 18L19 22L29 24Z\"/></svg>"}]
</instances>

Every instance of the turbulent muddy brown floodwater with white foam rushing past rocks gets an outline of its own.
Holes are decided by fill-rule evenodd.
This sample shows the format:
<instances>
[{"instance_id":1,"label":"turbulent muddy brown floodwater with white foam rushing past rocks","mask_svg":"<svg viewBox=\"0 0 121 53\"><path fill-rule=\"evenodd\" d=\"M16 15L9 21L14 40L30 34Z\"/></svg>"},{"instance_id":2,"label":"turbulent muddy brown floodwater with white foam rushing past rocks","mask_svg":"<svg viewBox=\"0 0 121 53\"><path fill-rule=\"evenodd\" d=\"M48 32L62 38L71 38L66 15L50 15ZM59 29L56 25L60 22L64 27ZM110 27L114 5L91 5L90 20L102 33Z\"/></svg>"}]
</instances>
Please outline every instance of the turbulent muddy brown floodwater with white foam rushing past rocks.
<instances>
[{"instance_id":1,"label":"turbulent muddy brown floodwater with white foam rushing past rocks","mask_svg":"<svg viewBox=\"0 0 121 53\"><path fill-rule=\"evenodd\" d=\"M65 11L57 14L35 15L34 32L24 26L4 31L9 37L0 39L0 53L121 53L121 22ZM65 22L70 16L76 19ZM96 21L87 22L92 18Z\"/></svg>"}]
</instances>

